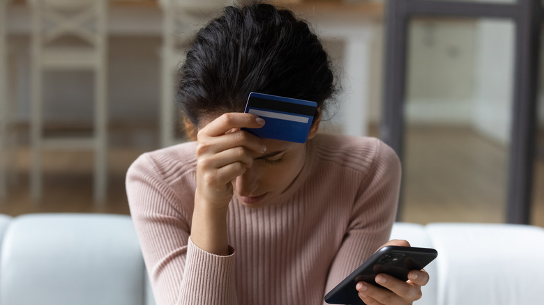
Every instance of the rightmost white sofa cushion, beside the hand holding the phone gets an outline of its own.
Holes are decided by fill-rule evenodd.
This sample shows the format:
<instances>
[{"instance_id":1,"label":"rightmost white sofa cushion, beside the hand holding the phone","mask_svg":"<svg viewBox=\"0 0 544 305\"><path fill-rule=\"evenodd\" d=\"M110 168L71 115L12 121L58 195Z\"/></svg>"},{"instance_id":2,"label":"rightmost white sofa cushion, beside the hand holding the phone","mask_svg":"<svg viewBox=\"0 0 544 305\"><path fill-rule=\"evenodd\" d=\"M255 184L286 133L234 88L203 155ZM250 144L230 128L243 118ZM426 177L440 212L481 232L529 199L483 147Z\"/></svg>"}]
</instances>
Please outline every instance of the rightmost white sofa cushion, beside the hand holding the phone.
<instances>
[{"instance_id":1,"label":"rightmost white sofa cushion, beside the hand holding the phone","mask_svg":"<svg viewBox=\"0 0 544 305\"><path fill-rule=\"evenodd\" d=\"M438 251L437 304L542 304L544 229L428 224Z\"/></svg>"}]
</instances>

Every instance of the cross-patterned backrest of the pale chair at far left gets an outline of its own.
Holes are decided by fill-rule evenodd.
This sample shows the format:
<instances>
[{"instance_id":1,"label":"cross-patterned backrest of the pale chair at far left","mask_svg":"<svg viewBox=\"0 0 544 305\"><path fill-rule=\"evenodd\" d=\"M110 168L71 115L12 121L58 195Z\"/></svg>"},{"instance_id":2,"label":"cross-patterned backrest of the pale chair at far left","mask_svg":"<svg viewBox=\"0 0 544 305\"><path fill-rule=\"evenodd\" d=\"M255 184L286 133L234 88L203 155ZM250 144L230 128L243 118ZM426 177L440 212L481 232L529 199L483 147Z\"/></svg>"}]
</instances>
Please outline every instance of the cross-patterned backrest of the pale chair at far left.
<instances>
[{"instance_id":1,"label":"cross-patterned backrest of the pale chair at far left","mask_svg":"<svg viewBox=\"0 0 544 305\"><path fill-rule=\"evenodd\" d=\"M34 47L105 48L107 0L31 0Z\"/></svg>"}]
</instances>

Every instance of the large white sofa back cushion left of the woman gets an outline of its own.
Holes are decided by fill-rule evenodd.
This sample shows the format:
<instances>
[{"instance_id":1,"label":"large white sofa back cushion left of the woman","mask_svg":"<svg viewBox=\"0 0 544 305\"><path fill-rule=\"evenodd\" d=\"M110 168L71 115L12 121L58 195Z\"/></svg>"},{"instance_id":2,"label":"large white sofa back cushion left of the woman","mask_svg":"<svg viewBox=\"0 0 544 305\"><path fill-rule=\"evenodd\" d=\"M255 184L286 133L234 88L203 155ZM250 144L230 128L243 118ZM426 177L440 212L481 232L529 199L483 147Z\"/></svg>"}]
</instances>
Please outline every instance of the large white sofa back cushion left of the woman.
<instances>
[{"instance_id":1,"label":"large white sofa back cushion left of the woman","mask_svg":"<svg viewBox=\"0 0 544 305\"><path fill-rule=\"evenodd\" d=\"M144 265L130 217L27 214L3 242L0 304L144 304Z\"/></svg>"}]
</instances>

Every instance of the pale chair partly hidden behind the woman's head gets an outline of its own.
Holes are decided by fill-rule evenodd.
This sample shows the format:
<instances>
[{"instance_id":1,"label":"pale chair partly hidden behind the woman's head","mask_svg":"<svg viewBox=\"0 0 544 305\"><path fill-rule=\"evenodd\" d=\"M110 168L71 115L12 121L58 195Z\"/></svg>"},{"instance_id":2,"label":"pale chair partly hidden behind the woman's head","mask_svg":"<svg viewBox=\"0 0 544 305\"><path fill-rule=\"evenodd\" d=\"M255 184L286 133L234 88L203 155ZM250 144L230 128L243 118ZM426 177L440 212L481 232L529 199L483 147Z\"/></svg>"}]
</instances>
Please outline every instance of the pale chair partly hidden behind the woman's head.
<instances>
[{"instance_id":1,"label":"pale chair partly hidden behind the woman's head","mask_svg":"<svg viewBox=\"0 0 544 305\"><path fill-rule=\"evenodd\" d=\"M160 145L178 143L174 92L176 72L183 62L185 49L197 29L232 0L159 0L163 9L163 46L160 72Z\"/></svg>"}]
</instances>

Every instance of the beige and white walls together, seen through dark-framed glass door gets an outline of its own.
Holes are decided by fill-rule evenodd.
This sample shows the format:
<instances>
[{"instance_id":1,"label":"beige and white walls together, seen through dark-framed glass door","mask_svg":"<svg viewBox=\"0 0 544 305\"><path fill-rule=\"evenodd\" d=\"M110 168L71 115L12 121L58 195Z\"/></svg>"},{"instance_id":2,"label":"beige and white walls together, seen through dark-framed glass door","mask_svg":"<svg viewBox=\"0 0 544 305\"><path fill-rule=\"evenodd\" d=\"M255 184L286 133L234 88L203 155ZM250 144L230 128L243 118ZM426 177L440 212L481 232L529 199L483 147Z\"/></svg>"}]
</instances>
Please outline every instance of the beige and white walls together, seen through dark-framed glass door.
<instances>
[{"instance_id":1,"label":"beige and white walls together, seen through dark-framed glass door","mask_svg":"<svg viewBox=\"0 0 544 305\"><path fill-rule=\"evenodd\" d=\"M508 144L513 31L512 22L491 19L413 22L407 67L408 123L468 126L492 141Z\"/></svg>"}]
</instances>

